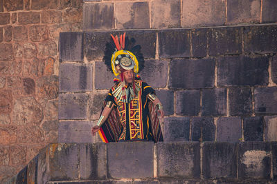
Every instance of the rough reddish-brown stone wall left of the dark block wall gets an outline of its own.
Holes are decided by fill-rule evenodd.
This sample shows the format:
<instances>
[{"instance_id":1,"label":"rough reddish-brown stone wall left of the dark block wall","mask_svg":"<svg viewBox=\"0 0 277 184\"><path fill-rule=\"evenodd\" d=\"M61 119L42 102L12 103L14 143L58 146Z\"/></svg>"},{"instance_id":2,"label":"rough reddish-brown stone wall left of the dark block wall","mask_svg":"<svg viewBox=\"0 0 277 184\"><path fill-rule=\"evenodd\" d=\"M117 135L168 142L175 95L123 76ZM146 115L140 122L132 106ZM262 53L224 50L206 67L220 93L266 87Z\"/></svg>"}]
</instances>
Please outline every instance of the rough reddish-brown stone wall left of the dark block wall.
<instances>
[{"instance_id":1,"label":"rough reddish-brown stone wall left of the dark block wall","mask_svg":"<svg viewBox=\"0 0 277 184\"><path fill-rule=\"evenodd\" d=\"M58 39L82 0L0 1L0 183L57 142Z\"/></svg>"}]
</instances>

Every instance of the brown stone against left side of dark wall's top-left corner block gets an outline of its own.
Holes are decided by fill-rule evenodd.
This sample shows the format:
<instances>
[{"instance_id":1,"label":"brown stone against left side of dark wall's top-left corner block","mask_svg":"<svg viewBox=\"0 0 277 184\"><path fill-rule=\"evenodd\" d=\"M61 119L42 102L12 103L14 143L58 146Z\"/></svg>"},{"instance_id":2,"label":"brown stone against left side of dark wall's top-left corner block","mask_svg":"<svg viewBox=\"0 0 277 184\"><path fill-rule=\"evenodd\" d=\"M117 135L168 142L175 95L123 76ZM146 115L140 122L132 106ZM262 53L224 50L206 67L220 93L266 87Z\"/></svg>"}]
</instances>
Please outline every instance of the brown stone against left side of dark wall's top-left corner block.
<instances>
[{"instance_id":1,"label":"brown stone against left side of dark wall's top-left corner block","mask_svg":"<svg viewBox=\"0 0 277 184\"><path fill-rule=\"evenodd\" d=\"M54 41L43 41L38 46L39 57L55 56L57 54L57 45Z\"/></svg>"}]
</instances>

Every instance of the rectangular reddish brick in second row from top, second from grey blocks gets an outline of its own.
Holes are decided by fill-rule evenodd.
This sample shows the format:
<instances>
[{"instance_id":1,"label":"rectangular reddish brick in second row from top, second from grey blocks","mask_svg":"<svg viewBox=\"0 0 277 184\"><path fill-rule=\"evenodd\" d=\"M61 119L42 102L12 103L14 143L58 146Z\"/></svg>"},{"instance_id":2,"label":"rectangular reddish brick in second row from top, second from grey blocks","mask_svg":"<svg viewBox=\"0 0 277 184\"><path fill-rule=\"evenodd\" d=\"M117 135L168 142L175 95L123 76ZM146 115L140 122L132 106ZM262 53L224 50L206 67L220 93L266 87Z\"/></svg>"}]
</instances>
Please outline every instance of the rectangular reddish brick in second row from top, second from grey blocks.
<instances>
[{"instance_id":1,"label":"rectangular reddish brick in second row from top, second from grey blocks","mask_svg":"<svg viewBox=\"0 0 277 184\"><path fill-rule=\"evenodd\" d=\"M61 23L62 12L58 10L44 10L42 11L42 23Z\"/></svg>"}]
</instances>

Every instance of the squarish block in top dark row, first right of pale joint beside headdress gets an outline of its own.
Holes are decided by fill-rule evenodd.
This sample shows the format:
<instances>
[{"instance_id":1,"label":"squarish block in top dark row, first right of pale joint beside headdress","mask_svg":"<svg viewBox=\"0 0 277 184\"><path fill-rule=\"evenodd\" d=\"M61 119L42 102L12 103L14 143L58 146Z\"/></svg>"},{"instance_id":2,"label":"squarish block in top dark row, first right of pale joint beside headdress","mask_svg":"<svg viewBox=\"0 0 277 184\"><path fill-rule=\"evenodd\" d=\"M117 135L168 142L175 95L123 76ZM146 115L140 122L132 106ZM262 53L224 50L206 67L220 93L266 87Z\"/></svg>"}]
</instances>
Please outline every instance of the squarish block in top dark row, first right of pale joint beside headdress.
<instances>
[{"instance_id":1,"label":"squarish block in top dark row, first right of pale joint beside headdress","mask_svg":"<svg viewBox=\"0 0 277 184\"><path fill-rule=\"evenodd\" d=\"M190 31L160 30L159 56L161 58L190 57Z\"/></svg>"}]
</instances>

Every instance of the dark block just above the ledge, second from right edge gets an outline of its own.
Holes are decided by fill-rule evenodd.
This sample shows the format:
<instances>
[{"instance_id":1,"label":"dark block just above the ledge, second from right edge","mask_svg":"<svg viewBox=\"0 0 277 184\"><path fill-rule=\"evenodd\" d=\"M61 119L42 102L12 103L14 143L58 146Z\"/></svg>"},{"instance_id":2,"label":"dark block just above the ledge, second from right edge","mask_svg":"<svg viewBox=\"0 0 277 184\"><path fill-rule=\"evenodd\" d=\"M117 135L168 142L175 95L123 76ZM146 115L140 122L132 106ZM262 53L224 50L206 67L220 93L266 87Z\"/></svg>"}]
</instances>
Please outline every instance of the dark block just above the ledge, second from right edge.
<instances>
[{"instance_id":1,"label":"dark block just above the ledge, second from right edge","mask_svg":"<svg viewBox=\"0 0 277 184\"><path fill-rule=\"evenodd\" d=\"M262 141L263 133L262 116L245 117L243 119L244 141Z\"/></svg>"}]
</instances>

